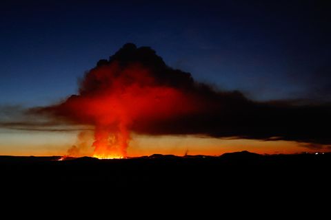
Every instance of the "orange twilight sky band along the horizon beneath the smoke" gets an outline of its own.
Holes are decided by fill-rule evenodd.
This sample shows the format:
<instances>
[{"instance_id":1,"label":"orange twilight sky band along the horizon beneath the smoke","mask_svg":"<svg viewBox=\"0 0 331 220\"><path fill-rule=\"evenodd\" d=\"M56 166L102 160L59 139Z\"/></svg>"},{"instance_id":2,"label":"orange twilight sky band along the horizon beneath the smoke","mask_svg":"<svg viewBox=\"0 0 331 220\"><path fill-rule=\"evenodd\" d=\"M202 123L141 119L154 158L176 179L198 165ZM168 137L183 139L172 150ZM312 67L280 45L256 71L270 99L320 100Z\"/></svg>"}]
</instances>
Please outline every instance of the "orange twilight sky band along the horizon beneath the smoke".
<instances>
[{"instance_id":1,"label":"orange twilight sky band along the horizon beneath the smoke","mask_svg":"<svg viewBox=\"0 0 331 220\"><path fill-rule=\"evenodd\" d=\"M308 143L290 141L261 141L261 140L222 140L212 137L196 137L194 135L132 135L130 146L125 156L111 151L108 154L95 151L91 147L93 134L80 135L77 133L54 132L13 132L0 133L0 155L16 156L53 156L69 155L68 148L75 144L80 151L72 157L97 157L97 158L126 158L141 157L155 153L163 155L222 155L236 151L250 151L259 154L291 154L330 152L327 146L321 148L308 148Z\"/></svg>"}]
</instances>

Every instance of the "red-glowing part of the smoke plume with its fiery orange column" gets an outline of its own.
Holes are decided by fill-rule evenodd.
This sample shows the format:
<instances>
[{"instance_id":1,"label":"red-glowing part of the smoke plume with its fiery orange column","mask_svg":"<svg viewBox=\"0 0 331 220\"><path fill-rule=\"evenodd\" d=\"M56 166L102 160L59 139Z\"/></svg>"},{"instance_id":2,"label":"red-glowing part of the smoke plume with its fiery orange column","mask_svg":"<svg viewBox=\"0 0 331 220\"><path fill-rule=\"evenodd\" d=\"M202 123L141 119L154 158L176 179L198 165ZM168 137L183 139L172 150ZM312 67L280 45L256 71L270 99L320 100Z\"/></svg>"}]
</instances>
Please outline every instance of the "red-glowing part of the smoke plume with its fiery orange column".
<instances>
[{"instance_id":1,"label":"red-glowing part of the smoke plume with its fiery orange column","mask_svg":"<svg viewBox=\"0 0 331 220\"><path fill-rule=\"evenodd\" d=\"M124 158L132 126L185 115L194 106L180 89L159 85L149 69L114 62L88 72L80 94L55 110L73 122L94 125L94 157Z\"/></svg>"}]
</instances>

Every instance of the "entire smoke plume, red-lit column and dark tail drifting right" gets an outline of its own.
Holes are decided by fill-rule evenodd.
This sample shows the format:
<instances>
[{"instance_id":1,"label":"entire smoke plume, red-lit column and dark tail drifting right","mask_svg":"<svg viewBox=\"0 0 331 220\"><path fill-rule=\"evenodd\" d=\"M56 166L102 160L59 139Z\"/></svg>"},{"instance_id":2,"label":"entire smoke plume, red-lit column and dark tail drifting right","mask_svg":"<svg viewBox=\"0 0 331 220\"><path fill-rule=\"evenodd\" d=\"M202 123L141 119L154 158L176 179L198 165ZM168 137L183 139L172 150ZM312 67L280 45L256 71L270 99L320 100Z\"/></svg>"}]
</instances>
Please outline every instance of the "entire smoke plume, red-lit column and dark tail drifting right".
<instances>
[{"instance_id":1,"label":"entire smoke plume, red-lit column and dark tail drifting right","mask_svg":"<svg viewBox=\"0 0 331 220\"><path fill-rule=\"evenodd\" d=\"M216 91L168 67L150 47L128 43L86 74L78 95L32 111L93 125L94 155L125 157L132 132L331 143L330 110Z\"/></svg>"}]
</instances>

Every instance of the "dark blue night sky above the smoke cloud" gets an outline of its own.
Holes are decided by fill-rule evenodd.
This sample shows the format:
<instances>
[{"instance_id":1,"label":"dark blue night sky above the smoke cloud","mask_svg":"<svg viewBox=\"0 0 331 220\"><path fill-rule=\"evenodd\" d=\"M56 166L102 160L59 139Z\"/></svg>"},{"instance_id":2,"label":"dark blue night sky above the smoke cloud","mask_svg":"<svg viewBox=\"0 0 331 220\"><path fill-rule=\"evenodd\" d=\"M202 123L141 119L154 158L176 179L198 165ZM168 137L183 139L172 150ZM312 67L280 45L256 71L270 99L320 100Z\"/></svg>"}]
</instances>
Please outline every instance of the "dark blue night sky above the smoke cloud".
<instances>
[{"instance_id":1,"label":"dark blue night sky above the smoke cloud","mask_svg":"<svg viewBox=\"0 0 331 220\"><path fill-rule=\"evenodd\" d=\"M255 100L330 101L330 3L273 2L1 1L0 104L66 98L128 42Z\"/></svg>"}]
</instances>

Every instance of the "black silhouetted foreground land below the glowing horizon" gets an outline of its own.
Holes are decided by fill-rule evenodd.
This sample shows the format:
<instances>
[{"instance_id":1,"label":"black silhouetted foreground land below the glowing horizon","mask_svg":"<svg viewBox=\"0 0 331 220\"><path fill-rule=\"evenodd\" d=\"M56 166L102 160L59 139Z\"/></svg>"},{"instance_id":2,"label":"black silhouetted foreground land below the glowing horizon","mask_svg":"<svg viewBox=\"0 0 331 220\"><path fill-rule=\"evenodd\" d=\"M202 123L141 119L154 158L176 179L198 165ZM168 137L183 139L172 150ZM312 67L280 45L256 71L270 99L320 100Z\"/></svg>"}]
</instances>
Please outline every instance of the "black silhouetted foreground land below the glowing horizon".
<instances>
[{"instance_id":1,"label":"black silhouetted foreground land below the glowing horizon","mask_svg":"<svg viewBox=\"0 0 331 220\"><path fill-rule=\"evenodd\" d=\"M2 201L29 212L47 207L54 209L48 213L102 210L107 216L117 207L139 207L144 216L151 210L159 210L159 216L174 210L232 217L292 212L295 219L298 213L329 210L330 153L60 158L1 156Z\"/></svg>"}]
</instances>

